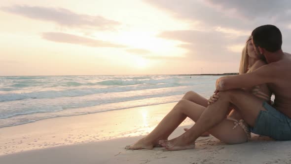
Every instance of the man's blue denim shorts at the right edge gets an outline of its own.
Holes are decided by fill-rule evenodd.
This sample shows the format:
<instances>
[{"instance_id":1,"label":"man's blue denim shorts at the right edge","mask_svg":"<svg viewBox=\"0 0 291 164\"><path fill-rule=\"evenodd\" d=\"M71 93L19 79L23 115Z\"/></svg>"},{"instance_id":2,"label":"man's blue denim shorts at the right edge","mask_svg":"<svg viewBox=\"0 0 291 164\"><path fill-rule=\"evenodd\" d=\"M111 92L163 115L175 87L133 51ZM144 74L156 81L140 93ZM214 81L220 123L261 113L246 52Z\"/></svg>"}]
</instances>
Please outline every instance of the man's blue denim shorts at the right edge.
<instances>
[{"instance_id":1,"label":"man's blue denim shorts at the right edge","mask_svg":"<svg viewBox=\"0 0 291 164\"><path fill-rule=\"evenodd\" d=\"M291 119L267 102L263 102L263 107L266 111L259 112L255 126L250 127L250 131L275 140L291 140Z\"/></svg>"}]
</instances>

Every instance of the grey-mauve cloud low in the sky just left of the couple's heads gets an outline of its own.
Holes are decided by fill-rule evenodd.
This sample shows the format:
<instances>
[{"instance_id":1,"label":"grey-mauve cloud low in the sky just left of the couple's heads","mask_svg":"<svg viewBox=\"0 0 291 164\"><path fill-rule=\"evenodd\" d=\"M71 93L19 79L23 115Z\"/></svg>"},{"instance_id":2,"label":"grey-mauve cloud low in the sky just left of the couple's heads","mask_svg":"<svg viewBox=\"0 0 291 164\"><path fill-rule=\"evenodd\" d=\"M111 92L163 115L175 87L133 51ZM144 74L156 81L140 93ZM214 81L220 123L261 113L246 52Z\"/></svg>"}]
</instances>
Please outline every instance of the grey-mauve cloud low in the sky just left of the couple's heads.
<instances>
[{"instance_id":1,"label":"grey-mauve cloud low in the sky just left of the couple's heads","mask_svg":"<svg viewBox=\"0 0 291 164\"><path fill-rule=\"evenodd\" d=\"M230 46L244 44L247 36L233 36L217 31L203 32L197 30L166 31L158 37L184 42L179 47L187 49L186 59L199 61L226 62L237 59L240 52L230 49Z\"/></svg>"}]
</instances>

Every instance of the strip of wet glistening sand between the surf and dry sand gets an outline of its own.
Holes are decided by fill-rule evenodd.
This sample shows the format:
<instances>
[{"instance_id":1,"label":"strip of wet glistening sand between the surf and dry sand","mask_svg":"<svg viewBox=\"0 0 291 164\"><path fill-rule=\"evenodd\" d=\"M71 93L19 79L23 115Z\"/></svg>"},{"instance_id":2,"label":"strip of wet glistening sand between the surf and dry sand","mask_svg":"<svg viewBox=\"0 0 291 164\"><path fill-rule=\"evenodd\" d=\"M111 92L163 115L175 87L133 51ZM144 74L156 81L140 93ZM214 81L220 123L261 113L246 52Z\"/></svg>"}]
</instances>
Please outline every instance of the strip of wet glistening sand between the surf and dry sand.
<instances>
[{"instance_id":1,"label":"strip of wet glistening sand between the surf and dry sand","mask_svg":"<svg viewBox=\"0 0 291 164\"><path fill-rule=\"evenodd\" d=\"M56 117L2 127L0 155L55 146L143 136L150 132L176 103ZM193 124L186 119L182 125Z\"/></svg>"}]
</instances>

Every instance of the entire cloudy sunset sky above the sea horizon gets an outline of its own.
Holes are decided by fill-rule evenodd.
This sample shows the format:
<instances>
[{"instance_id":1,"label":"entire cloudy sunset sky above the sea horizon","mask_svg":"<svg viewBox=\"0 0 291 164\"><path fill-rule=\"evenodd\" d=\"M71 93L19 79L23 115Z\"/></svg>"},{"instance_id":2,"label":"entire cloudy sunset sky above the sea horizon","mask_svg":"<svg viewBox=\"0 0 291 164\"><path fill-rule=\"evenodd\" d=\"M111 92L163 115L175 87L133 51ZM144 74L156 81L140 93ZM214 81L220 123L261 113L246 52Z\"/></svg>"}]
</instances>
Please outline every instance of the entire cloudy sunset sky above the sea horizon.
<instances>
[{"instance_id":1,"label":"entire cloudy sunset sky above the sea horizon","mask_svg":"<svg viewBox=\"0 0 291 164\"><path fill-rule=\"evenodd\" d=\"M265 24L291 52L291 0L0 0L0 76L238 72Z\"/></svg>"}]
</instances>

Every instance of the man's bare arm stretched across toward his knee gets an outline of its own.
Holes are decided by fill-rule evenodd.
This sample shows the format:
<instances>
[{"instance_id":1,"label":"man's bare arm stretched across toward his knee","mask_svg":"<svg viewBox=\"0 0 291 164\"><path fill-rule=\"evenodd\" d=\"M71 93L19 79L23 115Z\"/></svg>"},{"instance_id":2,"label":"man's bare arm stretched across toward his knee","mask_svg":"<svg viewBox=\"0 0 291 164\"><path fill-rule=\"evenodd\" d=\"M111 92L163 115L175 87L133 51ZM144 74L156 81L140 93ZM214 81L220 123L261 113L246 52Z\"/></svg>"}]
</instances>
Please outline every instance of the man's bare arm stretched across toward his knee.
<instances>
[{"instance_id":1,"label":"man's bare arm stretched across toward his knee","mask_svg":"<svg viewBox=\"0 0 291 164\"><path fill-rule=\"evenodd\" d=\"M276 80L276 70L274 64L268 64L248 74L221 77L216 82L216 88L219 91L223 91L235 88L249 88L262 83L272 83Z\"/></svg>"}]
</instances>

